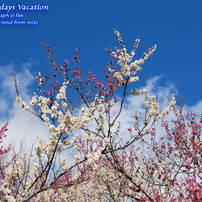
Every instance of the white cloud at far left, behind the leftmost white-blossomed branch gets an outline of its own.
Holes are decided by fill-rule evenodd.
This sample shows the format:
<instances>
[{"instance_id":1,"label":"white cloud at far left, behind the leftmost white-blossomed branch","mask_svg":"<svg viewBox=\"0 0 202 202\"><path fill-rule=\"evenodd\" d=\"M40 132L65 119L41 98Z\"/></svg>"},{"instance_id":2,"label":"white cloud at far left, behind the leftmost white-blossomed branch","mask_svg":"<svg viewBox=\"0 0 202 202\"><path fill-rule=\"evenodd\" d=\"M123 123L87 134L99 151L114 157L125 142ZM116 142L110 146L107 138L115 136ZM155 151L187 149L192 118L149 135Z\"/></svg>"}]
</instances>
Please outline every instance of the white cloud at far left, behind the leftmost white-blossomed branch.
<instances>
[{"instance_id":1,"label":"white cloud at far left, behind the leftmost white-blossomed branch","mask_svg":"<svg viewBox=\"0 0 202 202\"><path fill-rule=\"evenodd\" d=\"M30 73L31 63L21 65L22 70L16 72L19 82L20 95L23 101L29 103L33 92L30 92L30 85L34 81L34 76ZM20 105L16 103L16 90L13 82L14 65L6 65L0 67L1 95L0 105L1 114L0 126L3 126L7 121L8 131L7 137L4 139L4 145L10 142L14 143L16 151L19 149L20 142L27 148L31 148L33 143L37 143L35 133L40 133L42 136L47 136L47 127L28 111L23 111Z\"/></svg>"}]
</instances>

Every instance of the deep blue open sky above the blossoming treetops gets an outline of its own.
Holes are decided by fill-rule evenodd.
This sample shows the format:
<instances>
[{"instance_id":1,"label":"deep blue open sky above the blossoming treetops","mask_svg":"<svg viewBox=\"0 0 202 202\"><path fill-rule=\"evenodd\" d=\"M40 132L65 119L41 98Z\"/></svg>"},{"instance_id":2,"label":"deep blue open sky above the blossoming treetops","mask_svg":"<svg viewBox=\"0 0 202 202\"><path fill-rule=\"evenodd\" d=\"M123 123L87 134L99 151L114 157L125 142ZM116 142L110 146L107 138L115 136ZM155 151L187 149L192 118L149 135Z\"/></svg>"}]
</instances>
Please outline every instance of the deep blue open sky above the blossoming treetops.
<instances>
[{"instance_id":1,"label":"deep blue open sky above the blossoming treetops","mask_svg":"<svg viewBox=\"0 0 202 202\"><path fill-rule=\"evenodd\" d=\"M184 97L187 105L202 103L201 0L4 0L0 6L2 4L49 6L48 11L13 11L23 14L22 20L38 20L37 25L0 25L0 102L3 103L2 108L5 105L5 110L0 111L3 115L8 112L7 101L3 99L5 96L8 98L6 87L12 83L9 76L13 70L21 75L20 85L25 86L28 85L23 81L25 69L29 70L26 78L30 81L38 70L43 75L50 74L52 69L42 43L50 44L55 50L58 66L65 59L73 64L74 50L78 48L79 67L86 72L92 70L100 79L104 78L101 73L110 61L105 48L117 46L114 28L120 31L129 51L140 36L136 59L142 57L147 48L157 44L157 50L139 73L138 87L161 76L158 85L164 89L174 86L172 88ZM31 91L35 91L36 86L33 90L24 89L32 95ZM15 100L13 97L8 99ZM200 107L195 109L201 111ZM14 112L9 113L14 117Z\"/></svg>"}]
</instances>

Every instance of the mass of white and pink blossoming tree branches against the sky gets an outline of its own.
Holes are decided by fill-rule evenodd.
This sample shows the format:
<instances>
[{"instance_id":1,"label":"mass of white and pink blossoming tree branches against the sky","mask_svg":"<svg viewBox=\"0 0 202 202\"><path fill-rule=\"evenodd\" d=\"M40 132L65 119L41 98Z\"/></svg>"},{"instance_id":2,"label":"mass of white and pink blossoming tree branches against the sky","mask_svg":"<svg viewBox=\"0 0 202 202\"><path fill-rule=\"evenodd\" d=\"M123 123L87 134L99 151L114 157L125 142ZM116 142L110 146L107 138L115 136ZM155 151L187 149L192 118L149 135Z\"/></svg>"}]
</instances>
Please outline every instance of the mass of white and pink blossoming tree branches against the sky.
<instances>
[{"instance_id":1,"label":"mass of white and pink blossoming tree branches against the sky","mask_svg":"<svg viewBox=\"0 0 202 202\"><path fill-rule=\"evenodd\" d=\"M38 72L38 92L30 109L20 97L14 74L17 103L44 122L49 137L36 134L33 151L28 154L21 148L10 162L5 158L10 147L1 148L2 201L202 201L201 119L184 112L174 94L160 111L157 97L146 89L129 91L156 45L133 60L140 39L128 53L120 33L115 33L120 49L106 49L112 60L103 81L90 70L84 76L78 49L74 67L67 60L57 66L54 51L44 45L52 75ZM120 115L127 96L134 102L143 96L145 111L135 109L123 137ZM172 123L166 121L170 113Z\"/></svg>"}]
</instances>

